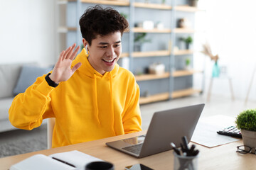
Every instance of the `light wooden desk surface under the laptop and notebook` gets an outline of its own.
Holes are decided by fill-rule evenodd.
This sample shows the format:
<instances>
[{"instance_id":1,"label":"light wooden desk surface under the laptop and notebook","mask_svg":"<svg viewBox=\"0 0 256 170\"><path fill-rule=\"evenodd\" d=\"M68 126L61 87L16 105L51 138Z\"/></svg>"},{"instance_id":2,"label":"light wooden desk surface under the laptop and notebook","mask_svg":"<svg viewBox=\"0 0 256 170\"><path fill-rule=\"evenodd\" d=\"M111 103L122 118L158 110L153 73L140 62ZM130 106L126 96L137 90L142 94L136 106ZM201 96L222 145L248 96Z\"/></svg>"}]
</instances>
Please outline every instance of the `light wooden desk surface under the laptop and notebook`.
<instances>
[{"instance_id":1,"label":"light wooden desk surface under the laptop and notebook","mask_svg":"<svg viewBox=\"0 0 256 170\"><path fill-rule=\"evenodd\" d=\"M53 154L58 152L68 152L71 150L78 150L85 152L94 157L98 157L108 162L112 162L116 170L123 170L125 166L132 164L145 164L152 169L173 169L174 155L173 151L162 152L154 154L149 157L137 159L122 152L118 152L105 145L105 142L124 139L127 137L134 137L136 135L144 135L144 132L136 132L127 135L120 135L116 137L109 137L102 140L95 140L91 142L84 142L76 145L69 145L66 147L58 147L53 149L46 149L38 152L31 152L28 154L20 154L12 157L4 157L0 159L0 169L9 169L12 164L22 161L34 154ZM201 152L198 159L199 169L255 169L256 155L254 154L238 154L236 146L242 145L242 140L232 142L228 145L219 147L207 148L201 145L196 145Z\"/></svg>"}]
</instances>

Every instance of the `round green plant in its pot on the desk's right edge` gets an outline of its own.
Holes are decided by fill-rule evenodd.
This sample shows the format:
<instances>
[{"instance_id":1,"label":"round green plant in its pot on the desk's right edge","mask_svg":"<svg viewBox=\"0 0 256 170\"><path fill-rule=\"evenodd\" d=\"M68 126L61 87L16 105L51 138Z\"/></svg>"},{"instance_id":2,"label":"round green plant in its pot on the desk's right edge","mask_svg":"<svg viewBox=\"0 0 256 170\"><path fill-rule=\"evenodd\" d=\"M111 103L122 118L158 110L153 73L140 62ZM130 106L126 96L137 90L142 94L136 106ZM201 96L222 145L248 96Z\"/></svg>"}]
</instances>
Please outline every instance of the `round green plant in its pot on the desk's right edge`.
<instances>
[{"instance_id":1,"label":"round green plant in its pot on the desk's right edge","mask_svg":"<svg viewBox=\"0 0 256 170\"><path fill-rule=\"evenodd\" d=\"M245 146L256 147L256 109L242 111L235 120Z\"/></svg>"}]
</instances>

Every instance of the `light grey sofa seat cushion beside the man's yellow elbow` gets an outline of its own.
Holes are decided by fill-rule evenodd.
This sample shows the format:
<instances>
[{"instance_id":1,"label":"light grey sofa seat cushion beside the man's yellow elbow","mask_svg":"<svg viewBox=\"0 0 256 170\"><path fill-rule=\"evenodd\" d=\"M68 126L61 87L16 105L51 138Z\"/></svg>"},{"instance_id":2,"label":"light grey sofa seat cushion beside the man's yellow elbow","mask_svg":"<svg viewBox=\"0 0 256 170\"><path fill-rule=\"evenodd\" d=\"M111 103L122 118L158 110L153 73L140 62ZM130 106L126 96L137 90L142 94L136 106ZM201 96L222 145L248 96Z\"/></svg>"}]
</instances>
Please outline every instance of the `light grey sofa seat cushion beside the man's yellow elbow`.
<instances>
[{"instance_id":1,"label":"light grey sofa seat cushion beside the man's yellow elbow","mask_svg":"<svg viewBox=\"0 0 256 170\"><path fill-rule=\"evenodd\" d=\"M14 100L11 98L1 98L0 100L0 121L1 120L9 120L9 108L11 107L11 103Z\"/></svg>"}]
</instances>

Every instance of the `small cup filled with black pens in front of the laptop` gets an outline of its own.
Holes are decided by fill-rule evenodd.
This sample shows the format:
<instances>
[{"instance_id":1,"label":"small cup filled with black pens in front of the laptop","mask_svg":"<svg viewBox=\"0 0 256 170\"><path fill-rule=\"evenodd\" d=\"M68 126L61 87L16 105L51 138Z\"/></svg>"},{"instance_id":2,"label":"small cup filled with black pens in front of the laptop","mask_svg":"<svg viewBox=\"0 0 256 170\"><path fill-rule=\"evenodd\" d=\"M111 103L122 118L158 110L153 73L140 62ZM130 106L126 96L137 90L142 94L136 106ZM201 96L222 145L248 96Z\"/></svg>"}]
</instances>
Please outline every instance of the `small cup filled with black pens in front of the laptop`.
<instances>
[{"instance_id":1,"label":"small cup filled with black pens in front of the laptop","mask_svg":"<svg viewBox=\"0 0 256 170\"><path fill-rule=\"evenodd\" d=\"M171 147L174 149L174 170L196 170L198 169L198 153L195 149L196 145L188 147L186 136L182 137L181 149L176 148L171 142Z\"/></svg>"}]
</instances>

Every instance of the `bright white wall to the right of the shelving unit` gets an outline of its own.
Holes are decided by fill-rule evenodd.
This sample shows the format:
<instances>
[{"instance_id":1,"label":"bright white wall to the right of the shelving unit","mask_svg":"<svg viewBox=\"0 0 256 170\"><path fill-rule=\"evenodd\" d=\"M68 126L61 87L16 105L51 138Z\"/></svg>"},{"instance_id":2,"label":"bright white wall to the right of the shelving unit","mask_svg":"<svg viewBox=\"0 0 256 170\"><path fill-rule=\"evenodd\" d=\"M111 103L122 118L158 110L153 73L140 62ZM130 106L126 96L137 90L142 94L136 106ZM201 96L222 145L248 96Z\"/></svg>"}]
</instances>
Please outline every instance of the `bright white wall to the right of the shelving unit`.
<instances>
[{"instance_id":1,"label":"bright white wall to the right of the shelving unit","mask_svg":"<svg viewBox=\"0 0 256 170\"><path fill-rule=\"evenodd\" d=\"M199 0L199 2L199 6L205 8L206 12L197 14L196 27L206 31L196 34L199 41L195 46L201 48L203 42L206 40L210 42L213 53L220 56L218 63L227 66L233 78L235 98L244 100L253 69L256 67L256 1ZM194 62L200 67L198 60L195 59ZM206 92L213 63L209 57L206 57ZM250 100L256 100L256 76L254 79ZM228 81L215 80L212 94L230 97Z\"/></svg>"}]
</instances>

